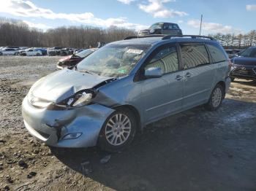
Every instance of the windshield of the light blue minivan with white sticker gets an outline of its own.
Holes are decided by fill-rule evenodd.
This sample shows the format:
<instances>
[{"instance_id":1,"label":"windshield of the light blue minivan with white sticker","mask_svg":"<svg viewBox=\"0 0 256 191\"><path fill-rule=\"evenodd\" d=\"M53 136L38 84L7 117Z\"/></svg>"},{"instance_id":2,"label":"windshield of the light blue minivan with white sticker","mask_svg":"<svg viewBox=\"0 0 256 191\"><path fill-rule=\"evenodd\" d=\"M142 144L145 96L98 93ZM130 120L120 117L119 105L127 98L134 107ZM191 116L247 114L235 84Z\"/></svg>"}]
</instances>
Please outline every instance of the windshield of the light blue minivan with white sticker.
<instances>
[{"instance_id":1,"label":"windshield of the light blue minivan with white sticker","mask_svg":"<svg viewBox=\"0 0 256 191\"><path fill-rule=\"evenodd\" d=\"M78 71L99 74L105 77L121 77L129 74L150 45L108 44L78 64Z\"/></svg>"}]
</instances>

